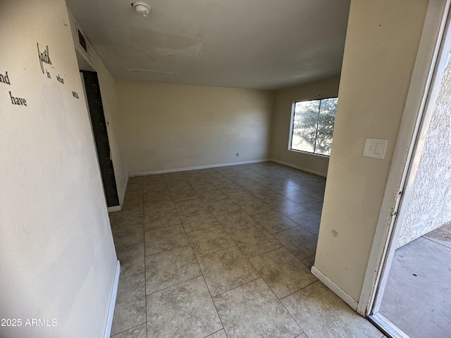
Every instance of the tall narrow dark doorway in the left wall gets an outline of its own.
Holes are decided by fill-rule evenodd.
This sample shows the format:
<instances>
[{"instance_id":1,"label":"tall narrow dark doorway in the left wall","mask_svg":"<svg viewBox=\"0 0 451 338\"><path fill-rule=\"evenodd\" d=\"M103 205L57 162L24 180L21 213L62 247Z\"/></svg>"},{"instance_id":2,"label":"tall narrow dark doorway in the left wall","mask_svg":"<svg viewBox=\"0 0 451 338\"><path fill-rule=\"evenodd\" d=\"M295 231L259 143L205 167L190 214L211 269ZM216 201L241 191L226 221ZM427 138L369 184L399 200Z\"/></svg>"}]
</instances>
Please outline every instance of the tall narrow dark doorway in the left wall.
<instances>
[{"instance_id":1,"label":"tall narrow dark doorway in the left wall","mask_svg":"<svg viewBox=\"0 0 451 338\"><path fill-rule=\"evenodd\" d=\"M114 177L113 161L111 160L110 144L106 132L106 120L104 106L101 103L99 79L97 73L87 70L81 71L85 80L86 99L91 116L92 132L97 148L97 157L101 172L101 180L104 183L104 192L107 206L118 206L118 189Z\"/></svg>"}]
</instances>

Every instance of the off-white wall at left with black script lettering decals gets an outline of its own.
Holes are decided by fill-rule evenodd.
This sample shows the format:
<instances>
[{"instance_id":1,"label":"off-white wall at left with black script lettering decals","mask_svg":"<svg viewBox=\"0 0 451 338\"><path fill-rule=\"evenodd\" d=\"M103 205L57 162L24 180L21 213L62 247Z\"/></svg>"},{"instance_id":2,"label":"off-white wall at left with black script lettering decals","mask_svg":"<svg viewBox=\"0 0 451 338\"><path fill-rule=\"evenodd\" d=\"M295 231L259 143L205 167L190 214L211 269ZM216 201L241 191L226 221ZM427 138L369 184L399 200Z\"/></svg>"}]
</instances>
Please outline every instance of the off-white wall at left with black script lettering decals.
<instances>
[{"instance_id":1,"label":"off-white wall at left with black script lettering decals","mask_svg":"<svg viewBox=\"0 0 451 338\"><path fill-rule=\"evenodd\" d=\"M116 253L66 4L1 1L0 32L0 318L23 320L0 337L103 337Z\"/></svg>"}]
</instances>

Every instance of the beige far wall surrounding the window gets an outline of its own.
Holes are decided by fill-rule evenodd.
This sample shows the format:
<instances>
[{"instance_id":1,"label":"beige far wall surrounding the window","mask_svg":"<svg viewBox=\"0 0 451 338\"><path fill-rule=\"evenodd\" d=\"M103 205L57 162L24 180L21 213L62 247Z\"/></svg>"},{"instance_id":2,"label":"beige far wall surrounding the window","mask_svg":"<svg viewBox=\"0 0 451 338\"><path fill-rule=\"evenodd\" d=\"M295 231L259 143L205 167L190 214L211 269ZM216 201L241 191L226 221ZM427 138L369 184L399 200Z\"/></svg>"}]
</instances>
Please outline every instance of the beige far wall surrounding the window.
<instances>
[{"instance_id":1,"label":"beige far wall surrounding the window","mask_svg":"<svg viewBox=\"0 0 451 338\"><path fill-rule=\"evenodd\" d=\"M288 163L311 173L326 176L329 158L288 150L292 103L314 99L328 99L338 96L340 77L280 89L276 92L274 104L271 158L280 163ZM321 164L320 164L321 161Z\"/></svg>"}]
</instances>

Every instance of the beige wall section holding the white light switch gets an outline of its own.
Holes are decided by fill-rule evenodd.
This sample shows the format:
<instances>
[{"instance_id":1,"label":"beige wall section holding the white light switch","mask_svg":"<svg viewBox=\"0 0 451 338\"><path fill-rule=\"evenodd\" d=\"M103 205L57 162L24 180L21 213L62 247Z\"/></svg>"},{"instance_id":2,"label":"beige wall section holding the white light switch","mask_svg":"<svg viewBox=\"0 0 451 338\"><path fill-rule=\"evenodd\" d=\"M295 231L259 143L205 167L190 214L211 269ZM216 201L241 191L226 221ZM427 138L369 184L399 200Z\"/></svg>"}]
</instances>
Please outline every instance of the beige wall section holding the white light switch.
<instances>
[{"instance_id":1,"label":"beige wall section holding the white light switch","mask_svg":"<svg viewBox=\"0 0 451 338\"><path fill-rule=\"evenodd\" d=\"M314 267L358 301L428 1L351 1ZM388 139L385 159L362 157Z\"/></svg>"}]
</instances>

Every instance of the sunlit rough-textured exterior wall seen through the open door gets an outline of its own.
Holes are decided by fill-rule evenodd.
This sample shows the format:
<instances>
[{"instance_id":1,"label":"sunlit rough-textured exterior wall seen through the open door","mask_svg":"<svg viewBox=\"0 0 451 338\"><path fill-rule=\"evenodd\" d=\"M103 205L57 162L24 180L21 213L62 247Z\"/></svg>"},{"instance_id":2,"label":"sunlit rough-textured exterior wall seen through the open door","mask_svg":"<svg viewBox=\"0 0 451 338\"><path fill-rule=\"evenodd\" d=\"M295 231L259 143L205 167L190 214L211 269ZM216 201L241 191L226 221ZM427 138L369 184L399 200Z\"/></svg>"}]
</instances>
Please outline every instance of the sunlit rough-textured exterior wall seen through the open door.
<instances>
[{"instance_id":1,"label":"sunlit rough-textured exterior wall seen through the open door","mask_svg":"<svg viewBox=\"0 0 451 338\"><path fill-rule=\"evenodd\" d=\"M448 62L407 211L398 237L400 247L451 220L451 63Z\"/></svg>"}]
</instances>

